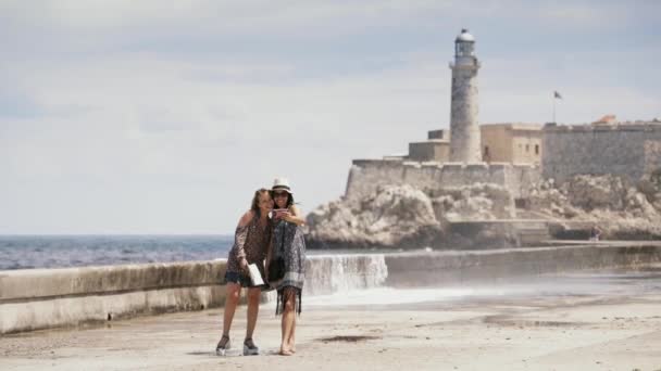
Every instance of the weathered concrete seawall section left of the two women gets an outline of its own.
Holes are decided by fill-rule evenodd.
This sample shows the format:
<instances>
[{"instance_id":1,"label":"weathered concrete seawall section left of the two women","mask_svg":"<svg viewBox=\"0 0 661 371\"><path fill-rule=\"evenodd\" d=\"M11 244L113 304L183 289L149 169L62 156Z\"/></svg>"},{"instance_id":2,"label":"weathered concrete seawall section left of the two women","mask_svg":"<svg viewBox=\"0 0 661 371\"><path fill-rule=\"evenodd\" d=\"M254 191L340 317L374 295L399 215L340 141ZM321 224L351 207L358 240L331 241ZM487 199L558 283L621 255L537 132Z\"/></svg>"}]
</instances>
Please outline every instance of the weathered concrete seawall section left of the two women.
<instances>
[{"instance_id":1,"label":"weathered concrete seawall section left of the two women","mask_svg":"<svg viewBox=\"0 0 661 371\"><path fill-rule=\"evenodd\" d=\"M225 261L0 272L0 333L221 306Z\"/></svg>"}]
</instances>

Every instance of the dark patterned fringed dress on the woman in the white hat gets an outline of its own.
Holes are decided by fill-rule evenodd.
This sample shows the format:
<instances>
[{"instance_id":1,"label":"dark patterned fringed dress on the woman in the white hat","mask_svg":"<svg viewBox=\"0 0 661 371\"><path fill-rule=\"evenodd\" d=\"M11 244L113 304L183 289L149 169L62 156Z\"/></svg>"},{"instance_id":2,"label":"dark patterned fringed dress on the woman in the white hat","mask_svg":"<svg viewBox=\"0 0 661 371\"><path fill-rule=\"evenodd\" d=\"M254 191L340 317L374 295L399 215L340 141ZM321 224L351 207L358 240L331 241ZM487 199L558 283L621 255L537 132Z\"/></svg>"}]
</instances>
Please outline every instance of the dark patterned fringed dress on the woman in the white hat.
<instances>
[{"instance_id":1,"label":"dark patterned fringed dress on the woman in the white hat","mask_svg":"<svg viewBox=\"0 0 661 371\"><path fill-rule=\"evenodd\" d=\"M278 281L269 282L277 290L277 305L275 314L283 312L285 303L291 297L296 300L296 311L301 312L303 281L305 276L305 240L301 227L286 220L274 221L273 256L283 257L285 261L285 276Z\"/></svg>"}]
</instances>

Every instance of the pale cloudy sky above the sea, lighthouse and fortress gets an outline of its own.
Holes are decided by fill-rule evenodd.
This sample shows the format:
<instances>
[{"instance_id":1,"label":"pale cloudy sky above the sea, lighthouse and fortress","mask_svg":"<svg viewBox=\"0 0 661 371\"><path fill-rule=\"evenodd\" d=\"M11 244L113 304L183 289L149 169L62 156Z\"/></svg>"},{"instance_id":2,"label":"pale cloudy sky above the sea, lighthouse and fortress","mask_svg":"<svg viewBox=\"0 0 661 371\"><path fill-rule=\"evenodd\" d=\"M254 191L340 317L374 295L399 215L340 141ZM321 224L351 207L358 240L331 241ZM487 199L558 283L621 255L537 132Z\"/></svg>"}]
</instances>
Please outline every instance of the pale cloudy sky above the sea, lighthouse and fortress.
<instances>
[{"instance_id":1,"label":"pale cloudy sky above the sea, lighthouse and fortress","mask_svg":"<svg viewBox=\"0 0 661 371\"><path fill-rule=\"evenodd\" d=\"M476 38L479 121L661 118L661 1L0 0L0 234L233 233L289 178L448 128Z\"/></svg>"}]
</instances>

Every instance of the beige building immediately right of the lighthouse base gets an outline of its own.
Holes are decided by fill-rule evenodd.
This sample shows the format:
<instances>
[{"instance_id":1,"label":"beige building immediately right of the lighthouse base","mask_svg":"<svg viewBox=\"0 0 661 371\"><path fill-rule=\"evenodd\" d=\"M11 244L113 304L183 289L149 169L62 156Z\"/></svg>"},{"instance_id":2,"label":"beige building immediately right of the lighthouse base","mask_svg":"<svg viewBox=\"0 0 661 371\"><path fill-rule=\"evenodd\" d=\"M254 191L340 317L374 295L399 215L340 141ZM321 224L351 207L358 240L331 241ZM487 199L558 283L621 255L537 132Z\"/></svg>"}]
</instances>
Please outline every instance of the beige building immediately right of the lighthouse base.
<instances>
[{"instance_id":1,"label":"beige building immediately right of the lighthouse base","mask_svg":"<svg viewBox=\"0 0 661 371\"><path fill-rule=\"evenodd\" d=\"M540 164L541 125L485 124L482 133L482 157L488 163Z\"/></svg>"}]
</instances>

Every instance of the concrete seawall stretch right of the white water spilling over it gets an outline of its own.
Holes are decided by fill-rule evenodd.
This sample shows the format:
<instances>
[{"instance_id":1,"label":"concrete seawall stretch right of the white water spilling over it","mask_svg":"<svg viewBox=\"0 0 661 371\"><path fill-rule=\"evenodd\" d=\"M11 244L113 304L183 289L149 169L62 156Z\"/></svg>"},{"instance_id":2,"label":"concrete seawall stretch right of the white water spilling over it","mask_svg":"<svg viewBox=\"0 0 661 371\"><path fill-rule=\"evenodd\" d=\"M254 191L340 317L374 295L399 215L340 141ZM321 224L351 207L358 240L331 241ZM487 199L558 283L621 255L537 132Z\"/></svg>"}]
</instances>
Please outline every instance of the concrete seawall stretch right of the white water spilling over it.
<instances>
[{"instance_id":1,"label":"concrete seawall stretch right of the white water spilling over it","mask_svg":"<svg viewBox=\"0 0 661 371\"><path fill-rule=\"evenodd\" d=\"M661 261L661 244L591 244L386 256L388 286L495 282L589 269L638 269Z\"/></svg>"}]
</instances>

